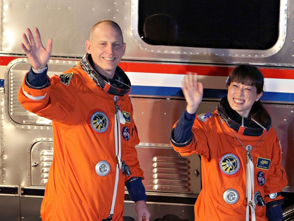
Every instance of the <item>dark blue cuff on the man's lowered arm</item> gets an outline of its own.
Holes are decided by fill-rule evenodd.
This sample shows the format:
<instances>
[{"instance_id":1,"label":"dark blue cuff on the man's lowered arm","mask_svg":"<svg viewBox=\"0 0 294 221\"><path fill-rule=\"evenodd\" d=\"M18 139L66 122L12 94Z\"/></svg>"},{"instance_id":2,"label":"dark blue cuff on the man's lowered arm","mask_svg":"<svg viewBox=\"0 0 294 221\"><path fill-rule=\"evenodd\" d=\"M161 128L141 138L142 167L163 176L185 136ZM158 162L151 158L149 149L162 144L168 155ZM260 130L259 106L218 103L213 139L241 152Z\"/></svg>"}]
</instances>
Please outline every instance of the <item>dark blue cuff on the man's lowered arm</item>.
<instances>
[{"instance_id":1,"label":"dark blue cuff on the man's lowered arm","mask_svg":"<svg viewBox=\"0 0 294 221\"><path fill-rule=\"evenodd\" d=\"M139 177L138 179L134 179L130 182L127 182L125 185L128 189L132 201L147 201L147 195L145 193L145 187L142 183L141 177Z\"/></svg>"}]
</instances>

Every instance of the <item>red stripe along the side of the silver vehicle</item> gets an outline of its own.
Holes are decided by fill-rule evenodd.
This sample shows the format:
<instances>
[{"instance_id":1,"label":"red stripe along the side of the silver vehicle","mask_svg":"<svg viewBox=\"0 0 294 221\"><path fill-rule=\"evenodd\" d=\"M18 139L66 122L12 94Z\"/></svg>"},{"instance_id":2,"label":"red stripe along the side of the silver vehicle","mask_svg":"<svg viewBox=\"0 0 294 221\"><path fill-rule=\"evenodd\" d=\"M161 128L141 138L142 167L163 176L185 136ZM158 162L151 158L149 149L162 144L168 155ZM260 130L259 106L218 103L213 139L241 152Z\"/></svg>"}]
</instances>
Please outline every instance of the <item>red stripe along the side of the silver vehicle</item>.
<instances>
[{"instance_id":1,"label":"red stripe along the side of the silver vehicle","mask_svg":"<svg viewBox=\"0 0 294 221\"><path fill-rule=\"evenodd\" d=\"M19 57L0 56L1 65L8 65ZM125 72L164 73L164 74L186 74L196 72L198 75L206 76L229 76L233 67L226 66L204 66L204 65L183 65L183 64L153 64L121 62L119 67ZM265 78L294 79L294 69L260 68Z\"/></svg>"}]
</instances>

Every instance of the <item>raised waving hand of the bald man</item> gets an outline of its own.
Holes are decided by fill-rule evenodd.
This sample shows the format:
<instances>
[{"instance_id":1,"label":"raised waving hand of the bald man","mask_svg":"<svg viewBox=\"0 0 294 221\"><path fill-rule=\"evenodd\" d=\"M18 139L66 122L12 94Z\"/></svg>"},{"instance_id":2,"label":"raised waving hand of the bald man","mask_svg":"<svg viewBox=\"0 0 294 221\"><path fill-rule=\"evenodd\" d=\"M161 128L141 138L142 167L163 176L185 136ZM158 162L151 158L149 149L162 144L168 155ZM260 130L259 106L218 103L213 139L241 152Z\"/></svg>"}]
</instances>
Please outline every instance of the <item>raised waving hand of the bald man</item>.
<instances>
[{"instance_id":1,"label":"raised waving hand of the bald man","mask_svg":"<svg viewBox=\"0 0 294 221\"><path fill-rule=\"evenodd\" d=\"M26 31L28 33L28 37L25 33L23 33L24 43L21 43L21 48L28 56L28 59L34 69L46 67L52 51L52 39L50 38L47 41L47 46L44 48L41 42L40 32L37 28L34 28L36 41L31 30L27 28Z\"/></svg>"}]
</instances>

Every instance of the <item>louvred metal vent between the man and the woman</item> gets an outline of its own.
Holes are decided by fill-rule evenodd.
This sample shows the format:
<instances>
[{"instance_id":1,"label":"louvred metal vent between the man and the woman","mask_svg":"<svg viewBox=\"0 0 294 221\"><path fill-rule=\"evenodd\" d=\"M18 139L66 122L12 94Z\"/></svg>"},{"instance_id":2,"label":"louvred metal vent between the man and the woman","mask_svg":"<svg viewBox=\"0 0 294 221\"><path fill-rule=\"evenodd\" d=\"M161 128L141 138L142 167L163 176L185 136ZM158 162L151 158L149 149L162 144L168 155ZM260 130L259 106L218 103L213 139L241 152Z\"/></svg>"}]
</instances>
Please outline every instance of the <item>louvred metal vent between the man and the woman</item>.
<instances>
[{"instance_id":1,"label":"louvred metal vent between the man and the woman","mask_svg":"<svg viewBox=\"0 0 294 221\"><path fill-rule=\"evenodd\" d=\"M190 160L184 157L153 158L154 190L190 192Z\"/></svg>"}]
</instances>

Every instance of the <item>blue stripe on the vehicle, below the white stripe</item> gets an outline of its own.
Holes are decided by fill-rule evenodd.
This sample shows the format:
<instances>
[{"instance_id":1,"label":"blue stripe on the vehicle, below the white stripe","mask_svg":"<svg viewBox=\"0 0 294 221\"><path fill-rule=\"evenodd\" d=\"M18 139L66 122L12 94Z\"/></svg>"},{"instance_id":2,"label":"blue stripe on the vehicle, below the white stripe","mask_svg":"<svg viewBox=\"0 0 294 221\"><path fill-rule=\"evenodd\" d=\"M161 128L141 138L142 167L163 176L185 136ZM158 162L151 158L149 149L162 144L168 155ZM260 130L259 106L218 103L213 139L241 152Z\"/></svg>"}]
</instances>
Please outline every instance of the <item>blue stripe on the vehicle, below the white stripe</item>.
<instances>
[{"instance_id":1,"label":"blue stripe on the vehicle, below the white stripe","mask_svg":"<svg viewBox=\"0 0 294 221\"><path fill-rule=\"evenodd\" d=\"M168 96L168 97L183 97L181 88L176 87L158 87L158 86L132 86L132 95L149 95L149 96ZM227 95L227 90L224 89L204 89L203 98L221 99ZM282 101L294 102L293 93L280 92L264 92L261 97L263 101Z\"/></svg>"}]
</instances>

